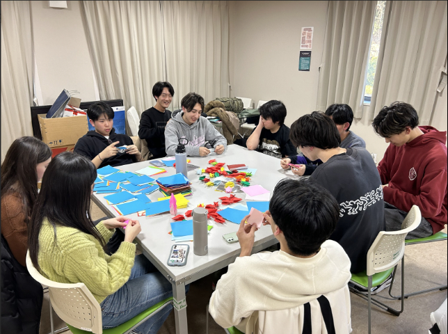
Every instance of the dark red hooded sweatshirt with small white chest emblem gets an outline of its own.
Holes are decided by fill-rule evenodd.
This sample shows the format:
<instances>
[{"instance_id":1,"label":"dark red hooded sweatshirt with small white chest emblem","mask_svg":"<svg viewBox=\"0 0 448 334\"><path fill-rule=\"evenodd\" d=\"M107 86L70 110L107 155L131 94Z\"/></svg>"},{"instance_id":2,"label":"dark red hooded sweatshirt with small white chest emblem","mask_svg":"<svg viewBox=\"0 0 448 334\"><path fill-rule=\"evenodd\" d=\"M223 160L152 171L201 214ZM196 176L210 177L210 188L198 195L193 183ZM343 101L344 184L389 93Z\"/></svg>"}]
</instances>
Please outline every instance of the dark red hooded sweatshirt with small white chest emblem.
<instances>
[{"instance_id":1,"label":"dark red hooded sweatshirt with small white chest emblem","mask_svg":"<svg viewBox=\"0 0 448 334\"><path fill-rule=\"evenodd\" d=\"M417 205L433 227L433 233L447 224L447 132L429 126L419 127L424 134L410 143L390 144L378 172L384 200L409 212Z\"/></svg>"}]
</instances>

